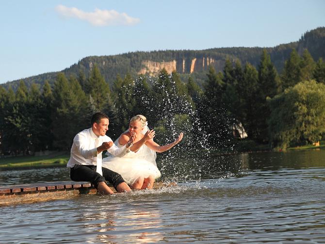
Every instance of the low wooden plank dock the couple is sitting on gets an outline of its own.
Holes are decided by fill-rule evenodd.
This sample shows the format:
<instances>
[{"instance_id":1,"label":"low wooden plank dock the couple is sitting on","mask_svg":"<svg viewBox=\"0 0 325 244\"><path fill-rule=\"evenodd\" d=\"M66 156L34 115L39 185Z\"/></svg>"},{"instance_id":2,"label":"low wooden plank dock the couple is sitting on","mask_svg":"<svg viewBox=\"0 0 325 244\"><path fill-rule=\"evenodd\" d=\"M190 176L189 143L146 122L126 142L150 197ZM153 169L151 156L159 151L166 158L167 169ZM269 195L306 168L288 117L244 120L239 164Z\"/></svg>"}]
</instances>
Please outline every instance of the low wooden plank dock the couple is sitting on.
<instances>
[{"instance_id":1,"label":"low wooden plank dock the couple is sitting on","mask_svg":"<svg viewBox=\"0 0 325 244\"><path fill-rule=\"evenodd\" d=\"M154 189L172 185L176 183L155 182ZM116 192L112 185L109 186ZM68 199L84 194L97 194L97 190L89 182L76 181L13 185L0 187L0 206Z\"/></svg>"}]
</instances>

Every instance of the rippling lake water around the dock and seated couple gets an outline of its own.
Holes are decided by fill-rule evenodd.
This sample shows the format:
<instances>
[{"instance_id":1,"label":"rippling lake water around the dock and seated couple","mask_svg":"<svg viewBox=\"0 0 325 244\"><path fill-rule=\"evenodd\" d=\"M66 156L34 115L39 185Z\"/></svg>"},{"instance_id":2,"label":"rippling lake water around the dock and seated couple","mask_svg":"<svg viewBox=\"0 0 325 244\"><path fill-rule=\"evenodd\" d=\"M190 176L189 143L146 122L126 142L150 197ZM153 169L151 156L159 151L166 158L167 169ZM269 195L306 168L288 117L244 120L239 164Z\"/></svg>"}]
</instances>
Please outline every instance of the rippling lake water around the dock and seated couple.
<instances>
[{"instance_id":1,"label":"rippling lake water around the dock and seated couple","mask_svg":"<svg viewBox=\"0 0 325 244\"><path fill-rule=\"evenodd\" d=\"M176 187L0 207L0 243L325 243L325 150L159 165ZM0 172L58 180L66 168Z\"/></svg>"}]
</instances>

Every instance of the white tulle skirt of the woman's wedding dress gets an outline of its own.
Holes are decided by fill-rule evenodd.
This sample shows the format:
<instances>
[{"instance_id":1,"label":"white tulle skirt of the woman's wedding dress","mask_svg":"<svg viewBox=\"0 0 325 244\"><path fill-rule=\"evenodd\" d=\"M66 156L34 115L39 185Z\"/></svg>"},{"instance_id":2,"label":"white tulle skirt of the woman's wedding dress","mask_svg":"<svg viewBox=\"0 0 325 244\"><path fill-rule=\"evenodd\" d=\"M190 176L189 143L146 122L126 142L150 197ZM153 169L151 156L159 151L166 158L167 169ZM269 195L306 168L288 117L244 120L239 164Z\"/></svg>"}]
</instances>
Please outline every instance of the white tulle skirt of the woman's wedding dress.
<instances>
[{"instance_id":1,"label":"white tulle skirt of the woman's wedding dress","mask_svg":"<svg viewBox=\"0 0 325 244\"><path fill-rule=\"evenodd\" d=\"M108 157L103 159L102 166L120 174L129 185L139 177L157 179L161 176L156 165L139 158Z\"/></svg>"}]
</instances>

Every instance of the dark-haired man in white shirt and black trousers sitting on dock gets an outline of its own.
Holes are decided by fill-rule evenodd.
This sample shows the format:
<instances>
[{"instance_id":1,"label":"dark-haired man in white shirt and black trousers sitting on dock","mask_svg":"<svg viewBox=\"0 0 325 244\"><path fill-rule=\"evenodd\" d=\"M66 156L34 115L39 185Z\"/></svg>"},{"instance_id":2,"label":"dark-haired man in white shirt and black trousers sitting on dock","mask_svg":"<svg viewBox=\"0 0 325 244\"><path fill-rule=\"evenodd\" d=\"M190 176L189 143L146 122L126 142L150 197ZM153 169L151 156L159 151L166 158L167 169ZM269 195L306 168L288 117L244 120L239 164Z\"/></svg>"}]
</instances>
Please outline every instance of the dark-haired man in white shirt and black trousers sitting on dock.
<instances>
[{"instance_id":1,"label":"dark-haired man in white shirt and black trousers sitting on dock","mask_svg":"<svg viewBox=\"0 0 325 244\"><path fill-rule=\"evenodd\" d=\"M91 128L82 130L73 139L70 159L66 165L70 168L72 180L90 181L102 195L113 194L106 181L112 183L117 192L131 191L119 174L101 167L101 153L107 150L114 156L122 157L129 152L134 137L125 146L118 148L106 135L108 125L109 118L106 114L93 114Z\"/></svg>"}]
</instances>

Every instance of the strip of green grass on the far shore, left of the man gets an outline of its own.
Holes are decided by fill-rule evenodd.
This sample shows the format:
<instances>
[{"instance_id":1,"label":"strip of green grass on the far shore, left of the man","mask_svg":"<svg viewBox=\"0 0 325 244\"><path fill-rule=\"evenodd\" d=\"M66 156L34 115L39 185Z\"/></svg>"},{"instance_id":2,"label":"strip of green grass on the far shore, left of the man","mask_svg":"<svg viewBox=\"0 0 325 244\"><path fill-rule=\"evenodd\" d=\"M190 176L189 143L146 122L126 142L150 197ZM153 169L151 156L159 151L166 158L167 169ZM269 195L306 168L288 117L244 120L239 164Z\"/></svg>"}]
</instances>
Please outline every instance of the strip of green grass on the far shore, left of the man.
<instances>
[{"instance_id":1,"label":"strip of green grass on the far shore, left of the man","mask_svg":"<svg viewBox=\"0 0 325 244\"><path fill-rule=\"evenodd\" d=\"M62 152L47 156L17 156L0 159L0 169L65 165L70 158L70 153Z\"/></svg>"}]
</instances>

